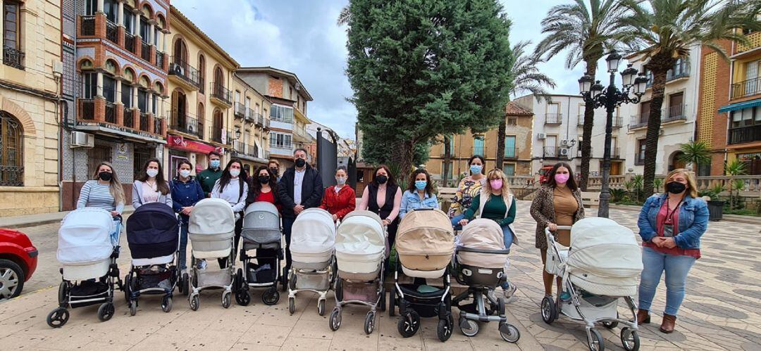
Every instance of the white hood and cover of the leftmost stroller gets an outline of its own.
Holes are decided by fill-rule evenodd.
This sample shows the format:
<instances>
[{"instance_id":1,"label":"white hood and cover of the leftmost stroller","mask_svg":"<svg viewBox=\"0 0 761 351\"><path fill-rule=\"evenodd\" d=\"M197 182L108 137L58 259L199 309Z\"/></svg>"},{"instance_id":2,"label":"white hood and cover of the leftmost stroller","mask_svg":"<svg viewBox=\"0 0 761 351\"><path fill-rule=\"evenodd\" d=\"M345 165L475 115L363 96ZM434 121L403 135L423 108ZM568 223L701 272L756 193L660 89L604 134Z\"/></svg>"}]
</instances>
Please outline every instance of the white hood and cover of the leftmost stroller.
<instances>
[{"instance_id":1,"label":"white hood and cover of the leftmost stroller","mask_svg":"<svg viewBox=\"0 0 761 351\"><path fill-rule=\"evenodd\" d=\"M68 213L58 231L58 261L87 264L110 258L114 230L113 217L107 210L85 207Z\"/></svg>"}]
</instances>

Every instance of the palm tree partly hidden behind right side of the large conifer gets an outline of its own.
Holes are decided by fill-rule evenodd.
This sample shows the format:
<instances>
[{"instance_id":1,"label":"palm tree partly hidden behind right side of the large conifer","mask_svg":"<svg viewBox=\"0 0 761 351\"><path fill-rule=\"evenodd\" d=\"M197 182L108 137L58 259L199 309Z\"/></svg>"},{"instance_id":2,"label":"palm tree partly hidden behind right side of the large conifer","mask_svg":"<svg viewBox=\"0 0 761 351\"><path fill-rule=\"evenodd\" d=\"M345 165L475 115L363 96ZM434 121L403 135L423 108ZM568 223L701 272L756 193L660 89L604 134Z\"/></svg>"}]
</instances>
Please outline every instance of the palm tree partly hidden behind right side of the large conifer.
<instances>
[{"instance_id":1,"label":"palm tree partly hidden behind right side of the large conifer","mask_svg":"<svg viewBox=\"0 0 761 351\"><path fill-rule=\"evenodd\" d=\"M530 44L530 41L523 41L513 46L513 66L509 72L512 81L510 95L517 96L517 93L528 91L537 101L541 101L547 96L545 87L554 88L555 81L540 72L539 67L537 67L542 62L540 56L526 52L526 48ZM506 129L507 116L499 122L497 129L497 164L495 167L498 169L502 169L502 161L505 160Z\"/></svg>"}]
</instances>

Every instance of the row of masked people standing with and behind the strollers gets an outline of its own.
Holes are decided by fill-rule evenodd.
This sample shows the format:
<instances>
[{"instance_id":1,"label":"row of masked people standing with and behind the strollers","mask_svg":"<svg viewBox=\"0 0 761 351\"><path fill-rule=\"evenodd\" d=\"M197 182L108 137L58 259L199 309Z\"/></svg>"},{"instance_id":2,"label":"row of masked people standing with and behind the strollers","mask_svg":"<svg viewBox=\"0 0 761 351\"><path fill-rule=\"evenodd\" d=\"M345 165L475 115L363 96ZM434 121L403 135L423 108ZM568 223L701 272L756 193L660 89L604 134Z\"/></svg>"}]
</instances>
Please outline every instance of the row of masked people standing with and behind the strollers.
<instances>
[{"instance_id":1,"label":"row of masked people standing with and behind the strollers","mask_svg":"<svg viewBox=\"0 0 761 351\"><path fill-rule=\"evenodd\" d=\"M243 211L248 204L267 201L280 210L283 235L286 241L286 267L291 267L291 228L299 213L308 208L319 207L330 212L334 221L340 221L352 210L370 210L377 213L387 228L390 247L396 239L400 220L417 208L440 208L431 175L425 169L416 169L409 176L406 189L400 188L387 166L374 169L371 182L355 204L356 194L346 182L347 169L336 169L336 185L323 188L317 169L307 163L307 151L294 152L294 166L279 175L276 160L268 166L260 166L251 175L244 171L244 164L231 159L221 167L221 155L209 153L209 168L190 175L193 165L180 161L177 175L171 181L164 179L161 162L151 159L145 163L132 185L132 206L140 207L149 202L161 202L174 208L182 222L180 234L180 263L186 269L186 245L188 219L193 206L203 198L221 198L228 201L234 213L235 245L243 225ZM452 199L449 217L454 229L462 229L474 218L495 220L503 231L505 247L518 243L512 224L516 218L517 201L511 192L508 178L500 169L486 171L486 160L475 155L468 160L470 174L464 177ZM100 207L110 211L119 224L126 203L119 179L110 163L97 167L93 179L81 188L78 207ZM548 181L534 194L530 215L537 222L535 245L542 263L546 261L547 242L544 229L555 232L561 245L570 246L571 232L558 230L558 226L571 226L584 218L581 191L568 163L557 163L549 171ZM642 262L644 270L639 286L640 324L650 322L650 308L661 280L666 275L666 310L661 331L673 332L677 311L685 295L685 282L690 267L700 258L700 237L708 223L705 201L697 198L695 177L686 169L670 172L664 182L664 193L654 194L645 201L638 219L639 235L642 237ZM117 228L117 230L119 230ZM274 256L272 253L271 256ZM219 262L224 267L226 262ZM568 299L559 278L556 279L561 299ZM553 276L543 270L546 296L552 296ZM506 302L513 302L517 287L509 280L502 284Z\"/></svg>"}]
</instances>

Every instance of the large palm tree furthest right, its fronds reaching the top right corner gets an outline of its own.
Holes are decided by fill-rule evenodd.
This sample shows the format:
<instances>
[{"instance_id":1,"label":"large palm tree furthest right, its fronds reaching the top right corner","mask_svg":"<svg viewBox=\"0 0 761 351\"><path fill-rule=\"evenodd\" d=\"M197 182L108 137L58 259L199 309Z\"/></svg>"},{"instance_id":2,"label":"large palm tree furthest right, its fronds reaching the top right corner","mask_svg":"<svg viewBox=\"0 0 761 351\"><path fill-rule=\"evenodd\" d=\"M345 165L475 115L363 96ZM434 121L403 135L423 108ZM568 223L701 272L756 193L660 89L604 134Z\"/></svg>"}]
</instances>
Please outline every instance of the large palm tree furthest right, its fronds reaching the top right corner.
<instances>
[{"instance_id":1,"label":"large palm tree furthest right, its fronds reaching the top right corner","mask_svg":"<svg viewBox=\"0 0 761 351\"><path fill-rule=\"evenodd\" d=\"M658 131L664 102L666 74L694 46L705 46L727 58L721 41L747 43L737 28L756 29L759 1L723 0L622 0L629 10L619 21L619 40L630 53L640 55L651 71L652 97L645 141L645 191L650 195L655 178Z\"/></svg>"}]
</instances>

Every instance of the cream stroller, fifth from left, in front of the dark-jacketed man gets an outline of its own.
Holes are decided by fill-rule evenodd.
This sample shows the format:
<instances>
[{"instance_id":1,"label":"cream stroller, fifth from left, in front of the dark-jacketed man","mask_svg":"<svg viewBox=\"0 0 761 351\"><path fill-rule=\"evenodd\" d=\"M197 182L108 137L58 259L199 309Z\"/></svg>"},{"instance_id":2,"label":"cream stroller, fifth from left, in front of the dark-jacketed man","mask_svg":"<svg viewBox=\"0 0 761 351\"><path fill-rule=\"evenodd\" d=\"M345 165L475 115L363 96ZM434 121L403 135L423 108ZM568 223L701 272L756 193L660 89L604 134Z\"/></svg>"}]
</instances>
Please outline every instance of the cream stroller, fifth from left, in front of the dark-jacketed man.
<instances>
[{"instance_id":1,"label":"cream stroller, fifth from left, in front of the dark-jacketed man","mask_svg":"<svg viewBox=\"0 0 761 351\"><path fill-rule=\"evenodd\" d=\"M291 271L288 272L288 311L296 311L296 294L320 294L317 313L325 315L325 296L335 279L336 223L326 210L310 208L296 217L291 234Z\"/></svg>"}]
</instances>

